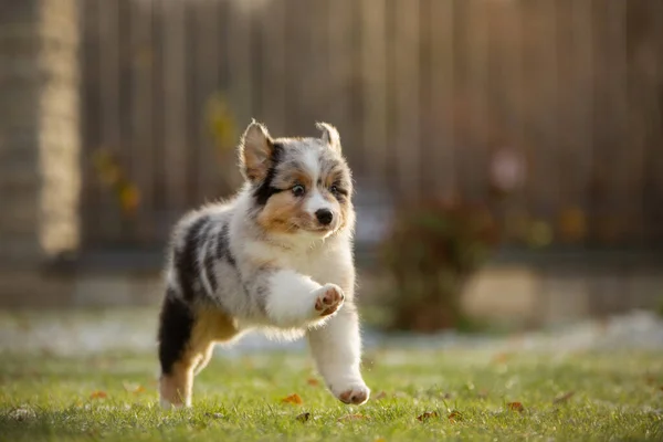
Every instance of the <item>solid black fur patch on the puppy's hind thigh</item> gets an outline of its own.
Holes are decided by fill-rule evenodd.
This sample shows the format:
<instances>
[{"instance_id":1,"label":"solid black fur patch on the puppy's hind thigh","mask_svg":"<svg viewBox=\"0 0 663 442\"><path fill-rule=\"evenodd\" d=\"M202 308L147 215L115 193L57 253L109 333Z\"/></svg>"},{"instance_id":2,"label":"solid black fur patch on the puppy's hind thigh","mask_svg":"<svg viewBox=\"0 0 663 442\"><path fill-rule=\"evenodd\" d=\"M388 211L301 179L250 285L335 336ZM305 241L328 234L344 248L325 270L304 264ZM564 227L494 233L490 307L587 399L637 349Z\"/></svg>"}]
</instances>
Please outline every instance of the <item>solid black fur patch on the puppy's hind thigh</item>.
<instances>
[{"instance_id":1,"label":"solid black fur patch on the puppy's hind thigh","mask_svg":"<svg viewBox=\"0 0 663 442\"><path fill-rule=\"evenodd\" d=\"M170 375L175 362L182 357L191 339L193 322L193 312L177 298L172 288L168 288L161 305L158 335L159 362L164 375Z\"/></svg>"}]
</instances>

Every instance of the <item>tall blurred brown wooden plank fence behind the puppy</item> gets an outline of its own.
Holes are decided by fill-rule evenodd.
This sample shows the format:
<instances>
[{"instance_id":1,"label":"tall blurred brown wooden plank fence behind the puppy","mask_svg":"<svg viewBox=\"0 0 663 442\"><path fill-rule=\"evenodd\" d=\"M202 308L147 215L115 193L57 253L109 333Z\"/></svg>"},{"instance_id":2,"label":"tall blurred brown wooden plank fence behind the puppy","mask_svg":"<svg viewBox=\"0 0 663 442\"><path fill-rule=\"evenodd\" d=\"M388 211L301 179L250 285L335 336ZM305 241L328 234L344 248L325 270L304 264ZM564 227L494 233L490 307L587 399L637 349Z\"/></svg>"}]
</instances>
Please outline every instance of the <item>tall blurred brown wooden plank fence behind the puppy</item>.
<instances>
[{"instance_id":1,"label":"tall blurred brown wooden plank fence behind the puppy","mask_svg":"<svg viewBox=\"0 0 663 442\"><path fill-rule=\"evenodd\" d=\"M82 4L87 248L161 246L230 194L251 117L335 124L360 192L481 201L512 180L499 215L554 244L663 245L661 1Z\"/></svg>"}]
</instances>

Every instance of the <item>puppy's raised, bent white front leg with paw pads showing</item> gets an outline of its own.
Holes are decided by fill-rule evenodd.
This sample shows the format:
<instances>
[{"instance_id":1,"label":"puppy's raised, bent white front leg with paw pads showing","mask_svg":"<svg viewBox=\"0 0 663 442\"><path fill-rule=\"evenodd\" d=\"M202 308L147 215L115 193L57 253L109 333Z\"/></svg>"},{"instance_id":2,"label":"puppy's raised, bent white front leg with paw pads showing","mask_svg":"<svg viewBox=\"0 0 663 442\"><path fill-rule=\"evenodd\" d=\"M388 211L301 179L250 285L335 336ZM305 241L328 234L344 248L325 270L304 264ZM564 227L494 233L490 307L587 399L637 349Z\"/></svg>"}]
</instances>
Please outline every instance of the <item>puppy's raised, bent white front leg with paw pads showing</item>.
<instances>
[{"instance_id":1,"label":"puppy's raised, bent white front leg with paw pads showing","mask_svg":"<svg viewBox=\"0 0 663 442\"><path fill-rule=\"evenodd\" d=\"M265 309L278 327L303 327L336 313L345 301L336 284L320 285L311 277L290 270L270 276Z\"/></svg>"}]
</instances>

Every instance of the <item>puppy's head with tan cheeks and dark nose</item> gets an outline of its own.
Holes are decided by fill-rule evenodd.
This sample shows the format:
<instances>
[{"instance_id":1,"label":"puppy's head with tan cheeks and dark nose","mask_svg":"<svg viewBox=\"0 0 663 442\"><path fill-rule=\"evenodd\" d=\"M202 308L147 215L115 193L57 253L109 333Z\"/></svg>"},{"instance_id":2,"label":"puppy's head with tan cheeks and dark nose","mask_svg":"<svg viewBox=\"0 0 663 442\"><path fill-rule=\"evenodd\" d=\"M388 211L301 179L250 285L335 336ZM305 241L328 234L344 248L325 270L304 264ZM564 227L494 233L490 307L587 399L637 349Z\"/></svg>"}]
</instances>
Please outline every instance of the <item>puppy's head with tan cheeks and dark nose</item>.
<instances>
[{"instance_id":1,"label":"puppy's head with tan cheeks and dark nose","mask_svg":"<svg viewBox=\"0 0 663 442\"><path fill-rule=\"evenodd\" d=\"M240 144L252 212L265 231L326 238L351 228L352 180L338 130L318 123L319 138L272 138L251 123Z\"/></svg>"}]
</instances>

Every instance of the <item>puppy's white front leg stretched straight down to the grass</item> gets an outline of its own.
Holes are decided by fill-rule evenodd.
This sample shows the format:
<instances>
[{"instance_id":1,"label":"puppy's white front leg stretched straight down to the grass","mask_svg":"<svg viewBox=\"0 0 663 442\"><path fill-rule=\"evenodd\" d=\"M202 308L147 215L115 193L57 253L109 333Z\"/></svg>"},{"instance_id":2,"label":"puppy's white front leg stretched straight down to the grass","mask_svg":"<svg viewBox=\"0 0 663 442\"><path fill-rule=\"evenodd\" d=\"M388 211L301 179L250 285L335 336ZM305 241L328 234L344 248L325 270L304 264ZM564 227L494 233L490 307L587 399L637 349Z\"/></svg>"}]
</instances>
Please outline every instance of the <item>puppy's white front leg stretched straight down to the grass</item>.
<instances>
[{"instance_id":1,"label":"puppy's white front leg stretched straight down to the grass","mask_svg":"<svg viewBox=\"0 0 663 442\"><path fill-rule=\"evenodd\" d=\"M361 378L361 338L359 317L351 303L319 328L308 332L308 341L318 371L329 390L345 403L360 404L370 390Z\"/></svg>"}]
</instances>

